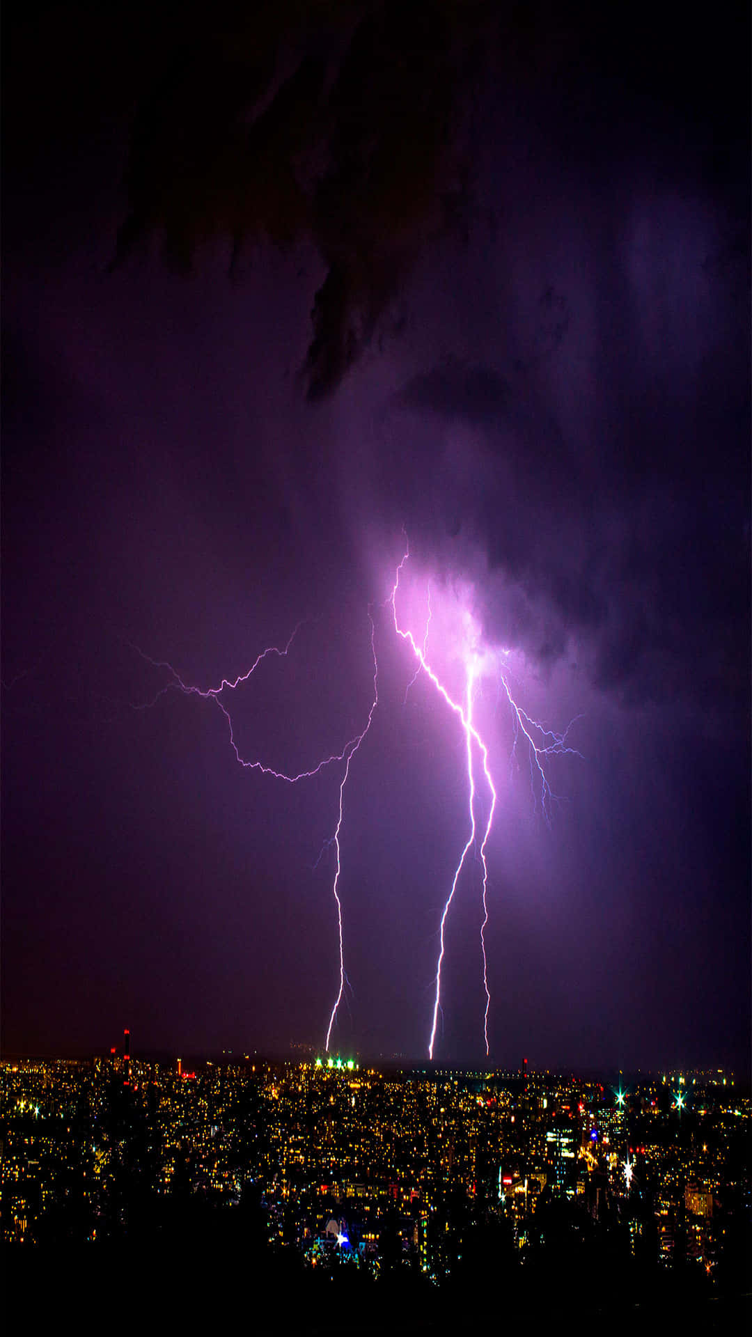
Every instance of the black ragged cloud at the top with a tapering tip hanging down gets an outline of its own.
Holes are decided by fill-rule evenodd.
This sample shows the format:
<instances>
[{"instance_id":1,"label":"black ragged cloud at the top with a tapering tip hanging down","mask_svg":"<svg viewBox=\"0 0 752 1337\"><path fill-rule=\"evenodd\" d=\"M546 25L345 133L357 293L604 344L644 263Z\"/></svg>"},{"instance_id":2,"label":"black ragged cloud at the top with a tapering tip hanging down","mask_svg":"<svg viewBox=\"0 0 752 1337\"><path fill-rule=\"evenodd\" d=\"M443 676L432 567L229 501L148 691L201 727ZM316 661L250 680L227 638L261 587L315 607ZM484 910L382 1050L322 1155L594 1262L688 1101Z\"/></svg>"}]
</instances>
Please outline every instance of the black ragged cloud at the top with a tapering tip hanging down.
<instances>
[{"instance_id":1,"label":"black ragged cloud at the top with a tapering tip hanging down","mask_svg":"<svg viewBox=\"0 0 752 1337\"><path fill-rule=\"evenodd\" d=\"M305 378L312 400L331 393L456 213L467 17L448 4L278 4L183 32L134 128L119 258L154 233L183 269L217 234L237 257L312 238L326 275Z\"/></svg>"}]
</instances>

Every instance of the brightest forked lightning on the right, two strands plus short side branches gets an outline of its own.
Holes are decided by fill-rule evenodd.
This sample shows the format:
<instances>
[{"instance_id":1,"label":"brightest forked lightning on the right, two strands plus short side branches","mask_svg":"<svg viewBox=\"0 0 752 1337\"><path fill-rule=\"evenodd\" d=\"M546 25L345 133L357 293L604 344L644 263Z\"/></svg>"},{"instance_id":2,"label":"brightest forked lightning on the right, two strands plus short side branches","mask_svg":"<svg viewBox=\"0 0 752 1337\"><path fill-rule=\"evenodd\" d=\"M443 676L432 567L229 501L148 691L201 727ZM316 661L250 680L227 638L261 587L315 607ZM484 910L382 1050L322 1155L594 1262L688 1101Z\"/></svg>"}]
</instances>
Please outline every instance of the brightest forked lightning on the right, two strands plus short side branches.
<instances>
[{"instance_id":1,"label":"brightest forked lightning on the right, two strands plus short side branches","mask_svg":"<svg viewBox=\"0 0 752 1337\"><path fill-rule=\"evenodd\" d=\"M405 535L405 537L407 537L407 535ZM431 1024L431 1036L430 1036L430 1040L428 1040L428 1058L430 1059L434 1058L434 1047L435 1047L435 1042L436 1042L436 1025L438 1025L439 1009L440 1009L440 997L442 997L442 964L443 964L443 960L444 960L444 928L446 928L446 923L447 923L447 916L450 913L450 906L452 904L452 900L454 900L454 896L455 896L455 892L456 892L459 876L460 876L462 869L464 866L464 861L467 858L468 850L471 849L471 846L476 841L476 833L478 833L476 821L475 821L475 794L476 794L476 790L475 790L475 774L474 774L474 745L475 745L475 750L480 754L480 762L482 762L482 767L483 767L483 774L484 774L484 778L486 778L486 783L488 786L488 793L491 796L491 802L490 802L490 808L488 808L488 817L487 817L487 822L486 822L486 829L484 829L483 840L480 841L480 849L479 849L480 866L482 866L482 870L483 870L483 878L482 878L483 921L480 924L480 953L482 953L482 959L483 959L483 988L486 991L486 1012L484 1012L484 1016L483 1016L483 1036L484 1036L484 1042L486 1042L486 1054L488 1054L490 1052L490 1043L488 1043L488 1012L490 1012L490 1007L491 1007L491 992L490 992L490 988L488 988L488 963L487 963L487 956L486 956L486 925L488 924L488 900L487 900L487 890L488 890L488 864L487 864L487 858L486 858L486 850L487 850L487 845L488 845L488 838L491 836L491 826L494 824L494 813L495 813L495 809L496 809L496 789L495 789L495 785L494 785L494 781L492 781L492 777L491 777L490 765L488 765L488 747L484 743L483 738L480 737L480 734L478 733L478 729L475 727L475 725L472 722L472 699L474 699L475 682L476 682L476 678L480 675L480 656L479 656L479 654L478 654L478 651L475 648L471 648L470 654L466 655L466 705L464 705L464 709L463 709L463 706L458 701L454 701L454 698L450 695L448 690L440 682L440 679L438 678L438 675L435 674L435 671L431 668L431 666L428 664L427 658L426 658L426 655L427 655L427 644L428 644L428 623L431 620L431 610L428 608L428 622L427 622L427 626L426 626L426 636L424 636L424 640L423 640L423 648L420 648L420 646L417 646L417 643L416 643L412 632L408 628L400 627L399 618L397 618L397 591L399 591L399 583L400 583L400 572L401 572L401 570L403 570L403 567L404 567L408 556L409 556L409 545L405 548L404 556L403 556L401 562L397 566L396 576L395 576L395 583L393 583L392 592L391 592L389 599L388 599L388 602L392 604L393 619L395 619L395 631L396 631L396 634L403 640L408 642L408 644L411 646L412 652L413 652L413 655L415 655L415 658L417 660L416 673L415 673L413 678L411 679L411 683L408 685L408 687L412 686L412 683L415 682L415 678L417 677L417 673L420 671L420 668L423 668L426 671L426 674L428 675L428 678L431 679L431 682L434 683L434 686L436 687L436 690L444 698L446 703L459 717L459 719L462 722L462 727L464 730L466 745L467 745L467 779L468 779L470 834L468 834L467 842L466 842L466 845L464 845L464 848L462 850L462 854L460 854L460 858L459 858L459 864L456 865L455 874L454 874L454 878L452 878L452 884L451 884L451 888L450 888L450 894L448 894L448 897L447 897L447 900L444 902L444 909L442 912L442 920L440 920L440 925L439 925L439 957L438 957L438 961L436 961L434 1015L432 1015L432 1024ZM530 782L531 782L531 789L533 789L534 804L535 804L535 806L538 806L538 797L537 797L537 792L535 792L535 775L538 775L539 794L541 794L541 810L542 810L542 814L543 814L543 817L546 820L546 824L550 825L550 804L551 804L551 801L555 800L555 796L551 793L551 789L549 786L549 781L547 781L546 771L545 771L545 759L547 757L561 755L563 753L569 753L569 754L573 754L573 755L577 755L577 757L581 755L574 747L569 747L566 745L566 738L567 738L569 730L571 729L571 725L574 723L574 721L571 721L571 723L567 726L567 729L565 730L563 734L557 734L553 730L546 729L543 725L538 723L537 721L531 719L530 715L521 706L516 705L516 702L515 702L515 699L514 699L514 697L511 694L507 677L504 675L503 671L500 673L500 685L503 686L503 690L506 693L507 701L508 701L511 711L512 711L512 721L514 721L512 755L514 755L514 750L516 747L516 742L518 742L519 734L522 733L525 735L525 738L527 739L529 749L530 749ZM535 741L537 738L539 739L538 742Z\"/></svg>"}]
</instances>

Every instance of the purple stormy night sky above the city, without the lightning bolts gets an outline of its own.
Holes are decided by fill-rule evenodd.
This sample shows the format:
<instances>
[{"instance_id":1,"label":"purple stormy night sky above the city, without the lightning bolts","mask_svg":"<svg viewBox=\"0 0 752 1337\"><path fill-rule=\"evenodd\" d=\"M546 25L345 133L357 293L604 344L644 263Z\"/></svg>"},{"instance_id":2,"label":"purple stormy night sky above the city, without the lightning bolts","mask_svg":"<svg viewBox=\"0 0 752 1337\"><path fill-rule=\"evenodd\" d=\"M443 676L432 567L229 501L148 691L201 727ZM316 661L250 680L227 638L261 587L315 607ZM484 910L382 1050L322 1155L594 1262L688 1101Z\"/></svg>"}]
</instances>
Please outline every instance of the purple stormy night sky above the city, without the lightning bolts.
<instances>
[{"instance_id":1,"label":"purple stormy night sky above the city, without the lightning bolts","mask_svg":"<svg viewBox=\"0 0 752 1337\"><path fill-rule=\"evenodd\" d=\"M744 7L4 8L4 1051L322 1044L344 763L241 769L149 660L205 690L300 622L222 695L297 773L365 725L371 607L332 1044L426 1055L468 778L404 527L400 619L430 588L458 698L486 656L491 1062L745 1070ZM550 824L502 663L578 717ZM455 1063L480 917L471 853Z\"/></svg>"}]
</instances>

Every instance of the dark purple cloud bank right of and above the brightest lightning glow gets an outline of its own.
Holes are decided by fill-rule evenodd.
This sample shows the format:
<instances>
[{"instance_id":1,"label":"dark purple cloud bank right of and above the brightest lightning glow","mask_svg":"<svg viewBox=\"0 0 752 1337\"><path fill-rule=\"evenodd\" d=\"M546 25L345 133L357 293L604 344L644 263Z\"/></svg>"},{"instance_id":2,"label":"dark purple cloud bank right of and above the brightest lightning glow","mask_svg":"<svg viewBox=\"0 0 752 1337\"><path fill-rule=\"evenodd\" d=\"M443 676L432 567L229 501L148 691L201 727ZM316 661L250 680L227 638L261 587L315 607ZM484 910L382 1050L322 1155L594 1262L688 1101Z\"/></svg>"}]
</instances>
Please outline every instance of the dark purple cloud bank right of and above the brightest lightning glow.
<instances>
[{"instance_id":1,"label":"dark purple cloud bank right of and above the brightest lightning glow","mask_svg":"<svg viewBox=\"0 0 752 1337\"><path fill-rule=\"evenodd\" d=\"M633 368L636 404L624 424L602 393L612 448L577 461L555 418L531 412L519 377L515 385L511 374L451 362L397 396L400 408L439 425L426 451L413 435L395 476L423 533L435 533L444 508L459 547L452 562L444 537L440 560L472 574L464 531L491 572L521 584L529 608L518 632L537 658L562 654L571 638L605 689L633 699L689 695L711 711L725 698L736 710L748 683L739 634L749 607L748 414L723 382L712 368L682 369L666 388L685 406L666 406L650 402ZM711 421L702 400L717 405ZM506 603L492 588L483 598L487 632L506 639Z\"/></svg>"}]
</instances>

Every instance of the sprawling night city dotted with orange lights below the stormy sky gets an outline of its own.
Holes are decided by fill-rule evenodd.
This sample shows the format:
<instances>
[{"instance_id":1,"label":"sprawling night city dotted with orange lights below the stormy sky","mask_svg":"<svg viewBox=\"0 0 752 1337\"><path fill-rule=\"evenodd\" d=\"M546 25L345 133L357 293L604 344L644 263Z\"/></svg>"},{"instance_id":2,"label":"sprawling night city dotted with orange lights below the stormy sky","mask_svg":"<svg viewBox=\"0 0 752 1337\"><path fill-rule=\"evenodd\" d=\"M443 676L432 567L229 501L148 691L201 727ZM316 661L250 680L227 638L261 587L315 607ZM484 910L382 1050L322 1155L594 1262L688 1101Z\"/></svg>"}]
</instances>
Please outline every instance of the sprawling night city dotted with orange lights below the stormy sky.
<instances>
[{"instance_id":1,"label":"sprawling night city dotted with orange lights below the stormy sky","mask_svg":"<svg viewBox=\"0 0 752 1337\"><path fill-rule=\"evenodd\" d=\"M5 1060L0 1079L4 1243L62 1251L68 1271L87 1243L139 1271L170 1246L205 1267L236 1235L304 1297L336 1278L377 1302L368 1288L401 1278L434 1317L491 1266L510 1297L585 1267L594 1310L625 1288L633 1318L688 1298L708 1314L745 1285L751 1102L720 1068L612 1084L526 1062L189 1068L139 1059L126 1032L86 1062Z\"/></svg>"}]
</instances>

